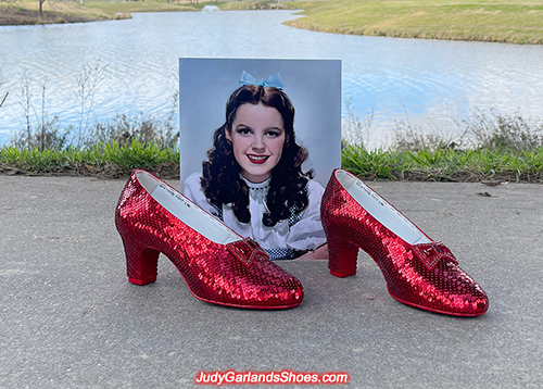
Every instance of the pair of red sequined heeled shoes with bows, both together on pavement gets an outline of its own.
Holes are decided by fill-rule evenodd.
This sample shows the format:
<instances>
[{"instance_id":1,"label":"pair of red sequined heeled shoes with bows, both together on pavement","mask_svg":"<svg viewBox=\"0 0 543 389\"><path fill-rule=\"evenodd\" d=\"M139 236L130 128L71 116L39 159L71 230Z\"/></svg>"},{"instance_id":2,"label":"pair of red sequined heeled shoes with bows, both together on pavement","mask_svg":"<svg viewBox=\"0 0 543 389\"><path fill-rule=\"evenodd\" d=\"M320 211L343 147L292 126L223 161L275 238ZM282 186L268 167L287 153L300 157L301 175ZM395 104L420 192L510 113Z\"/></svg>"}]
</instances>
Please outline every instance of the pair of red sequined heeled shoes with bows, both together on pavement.
<instances>
[{"instance_id":1,"label":"pair of red sequined heeled shoes with bows, both together on pavement","mask_svg":"<svg viewBox=\"0 0 543 389\"><path fill-rule=\"evenodd\" d=\"M458 316L487 312L487 294L452 252L351 173L333 172L320 211L332 275L354 275L361 248L379 265L397 301ZM303 300L300 281L269 261L256 242L148 172L135 171L128 179L115 224L132 284L156 279L162 252L199 300L251 309L286 309Z\"/></svg>"}]
</instances>

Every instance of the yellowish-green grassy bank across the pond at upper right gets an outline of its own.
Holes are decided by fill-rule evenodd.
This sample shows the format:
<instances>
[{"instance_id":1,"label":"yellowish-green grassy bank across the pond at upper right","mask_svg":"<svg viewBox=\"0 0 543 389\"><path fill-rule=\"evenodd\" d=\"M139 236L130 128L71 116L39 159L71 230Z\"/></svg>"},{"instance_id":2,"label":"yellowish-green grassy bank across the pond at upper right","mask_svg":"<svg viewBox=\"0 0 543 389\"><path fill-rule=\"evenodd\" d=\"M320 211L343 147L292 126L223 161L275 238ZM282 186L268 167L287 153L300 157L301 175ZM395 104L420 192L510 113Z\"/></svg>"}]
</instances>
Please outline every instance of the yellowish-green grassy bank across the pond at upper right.
<instances>
[{"instance_id":1,"label":"yellowish-green grassy bank across the pond at upper right","mask_svg":"<svg viewBox=\"0 0 543 389\"><path fill-rule=\"evenodd\" d=\"M541 0L331 0L292 2L318 32L402 38L543 42Z\"/></svg>"}]
</instances>

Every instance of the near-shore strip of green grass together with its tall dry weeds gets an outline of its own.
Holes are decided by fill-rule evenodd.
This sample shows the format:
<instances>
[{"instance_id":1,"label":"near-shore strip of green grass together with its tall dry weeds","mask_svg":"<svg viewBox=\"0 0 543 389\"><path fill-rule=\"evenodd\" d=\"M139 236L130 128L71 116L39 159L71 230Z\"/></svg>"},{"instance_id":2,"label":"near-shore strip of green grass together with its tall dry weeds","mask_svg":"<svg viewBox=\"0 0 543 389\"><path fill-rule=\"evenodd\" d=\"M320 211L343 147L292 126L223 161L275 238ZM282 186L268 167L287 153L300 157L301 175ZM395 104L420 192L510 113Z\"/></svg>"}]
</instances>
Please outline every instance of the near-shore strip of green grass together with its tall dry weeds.
<instances>
[{"instance_id":1,"label":"near-shore strip of green grass together with its tall dry weeds","mask_svg":"<svg viewBox=\"0 0 543 389\"><path fill-rule=\"evenodd\" d=\"M117 117L96 124L78 146L59 130L36 128L0 148L0 174L127 176L144 168L163 178L179 176L177 135L162 122ZM469 136L468 136L469 134ZM90 141L92 139L93 141ZM400 130L392 147L368 150L344 143L342 167L363 179L543 183L543 121L480 115L458 139Z\"/></svg>"}]
</instances>

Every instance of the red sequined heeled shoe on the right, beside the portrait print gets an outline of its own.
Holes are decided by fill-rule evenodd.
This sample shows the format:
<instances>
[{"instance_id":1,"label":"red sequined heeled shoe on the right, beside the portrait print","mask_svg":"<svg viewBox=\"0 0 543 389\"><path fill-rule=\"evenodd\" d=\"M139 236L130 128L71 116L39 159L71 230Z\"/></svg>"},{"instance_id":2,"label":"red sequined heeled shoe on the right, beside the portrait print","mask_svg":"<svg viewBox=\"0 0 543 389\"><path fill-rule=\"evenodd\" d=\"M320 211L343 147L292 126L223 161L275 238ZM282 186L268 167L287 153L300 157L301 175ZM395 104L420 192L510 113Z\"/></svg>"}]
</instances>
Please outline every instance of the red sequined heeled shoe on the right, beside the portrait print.
<instances>
[{"instance_id":1,"label":"red sequined heeled shoe on the right, beside the portrait print","mask_svg":"<svg viewBox=\"0 0 543 389\"><path fill-rule=\"evenodd\" d=\"M332 173L320 213L332 275L356 274L361 248L377 262L389 293L397 301L449 315L487 312L487 294L458 267L451 250L431 240L351 173Z\"/></svg>"}]
</instances>

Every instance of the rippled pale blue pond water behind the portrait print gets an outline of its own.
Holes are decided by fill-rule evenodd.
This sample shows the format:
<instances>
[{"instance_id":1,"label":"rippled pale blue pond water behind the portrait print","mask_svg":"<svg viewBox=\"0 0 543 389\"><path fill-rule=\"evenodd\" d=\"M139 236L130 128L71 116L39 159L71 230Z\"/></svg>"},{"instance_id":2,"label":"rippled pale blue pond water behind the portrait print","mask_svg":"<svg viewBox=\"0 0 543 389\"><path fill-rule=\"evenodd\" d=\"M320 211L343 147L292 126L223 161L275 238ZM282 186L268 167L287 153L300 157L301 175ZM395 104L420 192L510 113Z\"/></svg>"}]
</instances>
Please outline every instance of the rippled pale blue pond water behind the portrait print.
<instances>
[{"instance_id":1,"label":"rippled pale blue pond water behind the portrait print","mask_svg":"<svg viewBox=\"0 0 543 389\"><path fill-rule=\"evenodd\" d=\"M282 25L298 17L292 11L132 16L0 27L0 100L9 92L0 145L25 127L26 113L76 127L123 113L165 117L180 57L341 59L344 118L370 122L365 137L374 145L399 122L450 134L478 110L543 116L540 46L315 33Z\"/></svg>"}]
</instances>

